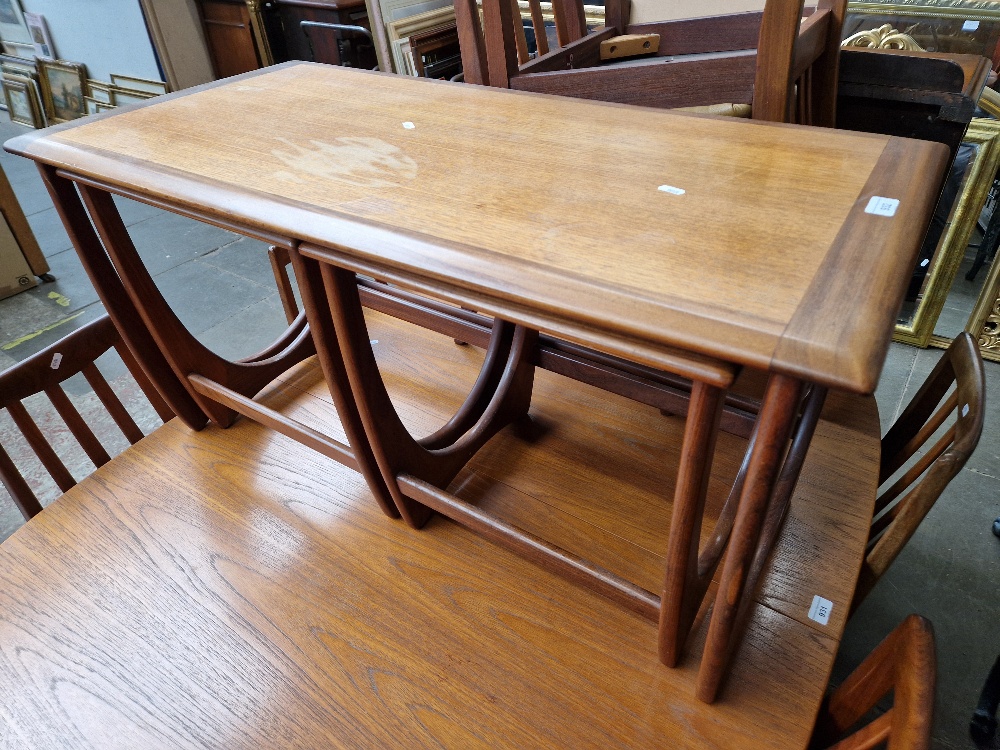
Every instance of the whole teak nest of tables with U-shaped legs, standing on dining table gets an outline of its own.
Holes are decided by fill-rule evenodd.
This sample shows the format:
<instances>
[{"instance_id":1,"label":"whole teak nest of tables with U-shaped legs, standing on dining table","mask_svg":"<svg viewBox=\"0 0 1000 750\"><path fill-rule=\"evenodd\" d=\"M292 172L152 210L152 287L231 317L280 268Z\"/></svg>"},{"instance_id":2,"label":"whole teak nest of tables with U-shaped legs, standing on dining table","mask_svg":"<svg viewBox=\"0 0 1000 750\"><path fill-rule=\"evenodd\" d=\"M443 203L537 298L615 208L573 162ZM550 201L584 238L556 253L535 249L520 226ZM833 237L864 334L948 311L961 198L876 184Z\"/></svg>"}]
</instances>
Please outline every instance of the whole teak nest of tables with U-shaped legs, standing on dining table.
<instances>
[{"instance_id":1,"label":"whole teak nest of tables with U-shaped legs, standing on dining table","mask_svg":"<svg viewBox=\"0 0 1000 750\"><path fill-rule=\"evenodd\" d=\"M898 268L912 263L912 229L929 215L945 149L330 66L248 80L8 144L42 165L110 314L168 401L192 427L231 424L238 411L361 471L390 516L419 526L433 508L544 560L659 621L667 664L680 660L721 563L698 687L714 698L825 389L871 392L878 380ZM206 128L178 148L177 109L187 125L240 121L248 135ZM299 115L280 134L264 127L290 110ZM543 169L530 183L526 164ZM669 167L641 190L605 189L650 164ZM142 267L112 192L286 248L311 332L300 316L238 362L199 345ZM866 210L880 196L899 201L891 216ZM355 274L368 278L359 286ZM488 350L468 400L425 439L389 403L361 301ZM313 340L346 442L253 400ZM687 379L673 402L688 429L660 585L580 560L449 492L488 437L520 421L536 362L661 408L659 373ZM770 379L745 470L702 545L708 471L724 417L740 421L727 396L743 367Z\"/></svg>"}]
</instances>

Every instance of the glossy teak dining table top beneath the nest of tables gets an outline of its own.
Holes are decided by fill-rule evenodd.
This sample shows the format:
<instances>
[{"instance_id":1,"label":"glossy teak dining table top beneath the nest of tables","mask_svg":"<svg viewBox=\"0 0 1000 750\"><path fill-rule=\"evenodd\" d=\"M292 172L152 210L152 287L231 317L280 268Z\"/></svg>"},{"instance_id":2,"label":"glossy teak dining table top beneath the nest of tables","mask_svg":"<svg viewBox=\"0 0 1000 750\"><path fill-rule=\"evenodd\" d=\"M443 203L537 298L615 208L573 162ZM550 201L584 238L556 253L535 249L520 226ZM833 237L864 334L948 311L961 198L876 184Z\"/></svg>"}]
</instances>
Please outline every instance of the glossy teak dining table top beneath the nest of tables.
<instances>
[{"instance_id":1,"label":"glossy teak dining table top beneath the nest of tables","mask_svg":"<svg viewBox=\"0 0 1000 750\"><path fill-rule=\"evenodd\" d=\"M439 426L482 353L368 318L407 426ZM312 360L262 401L339 434ZM450 489L656 586L682 430L539 371L530 426L501 432ZM707 529L745 448L719 437ZM697 645L667 668L654 623L445 519L386 518L360 475L299 443L248 420L174 420L0 546L0 747L805 747L878 451L874 401L831 395L707 705ZM826 625L808 617L815 594L833 602Z\"/></svg>"}]
</instances>

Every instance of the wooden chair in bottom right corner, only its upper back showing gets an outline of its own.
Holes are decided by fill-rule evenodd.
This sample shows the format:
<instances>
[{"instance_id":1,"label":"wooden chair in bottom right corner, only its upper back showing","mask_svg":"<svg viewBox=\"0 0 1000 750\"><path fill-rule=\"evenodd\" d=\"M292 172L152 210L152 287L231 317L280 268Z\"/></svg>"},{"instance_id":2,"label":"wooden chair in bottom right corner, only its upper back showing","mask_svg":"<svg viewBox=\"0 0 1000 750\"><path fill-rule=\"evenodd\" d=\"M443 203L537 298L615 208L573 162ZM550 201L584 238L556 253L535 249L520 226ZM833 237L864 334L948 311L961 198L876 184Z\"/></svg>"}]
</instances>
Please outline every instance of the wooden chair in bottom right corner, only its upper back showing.
<instances>
[{"instance_id":1,"label":"wooden chair in bottom right corner, only its upper back showing","mask_svg":"<svg viewBox=\"0 0 1000 750\"><path fill-rule=\"evenodd\" d=\"M820 709L813 748L926 750L931 745L936 677L934 630L910 615L831 693ZM893 692L893 705L877 719L850 732Z\"/></svg>"}]
</instances>

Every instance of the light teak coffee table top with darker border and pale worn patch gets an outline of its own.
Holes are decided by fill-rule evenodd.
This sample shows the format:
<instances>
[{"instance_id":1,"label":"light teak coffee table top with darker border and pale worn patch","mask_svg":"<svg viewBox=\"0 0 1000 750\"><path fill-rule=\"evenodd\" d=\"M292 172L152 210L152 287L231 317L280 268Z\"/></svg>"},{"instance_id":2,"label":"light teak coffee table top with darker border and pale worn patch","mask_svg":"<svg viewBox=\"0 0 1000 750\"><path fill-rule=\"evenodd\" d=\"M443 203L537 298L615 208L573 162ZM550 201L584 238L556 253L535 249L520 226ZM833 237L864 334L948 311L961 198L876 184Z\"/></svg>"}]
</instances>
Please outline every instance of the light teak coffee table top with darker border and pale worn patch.
<instances>
[{"instance_id":1,"label":"light teak coffee table top with darker border and pale worn patch","mask_svg":"<svg viewBox=\"0 0 1000 750\"><path fill-rule=\"evenodd\" d=\"M866 393L947 158L310 63L6 148L646 364L679 347Z\"/></svg>"}]
</instances>

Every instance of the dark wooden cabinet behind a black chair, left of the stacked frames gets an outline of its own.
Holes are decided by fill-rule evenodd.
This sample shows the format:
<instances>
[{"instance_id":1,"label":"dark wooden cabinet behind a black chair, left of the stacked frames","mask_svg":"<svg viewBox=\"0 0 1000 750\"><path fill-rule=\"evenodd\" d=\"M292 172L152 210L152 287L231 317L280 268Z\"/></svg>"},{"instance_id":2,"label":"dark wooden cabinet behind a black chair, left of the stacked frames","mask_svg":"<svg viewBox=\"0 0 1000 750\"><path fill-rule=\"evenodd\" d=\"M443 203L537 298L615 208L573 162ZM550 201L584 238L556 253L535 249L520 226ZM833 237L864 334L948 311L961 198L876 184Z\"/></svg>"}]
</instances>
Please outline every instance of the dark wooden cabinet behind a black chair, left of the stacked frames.
<instances>
[{"instance_id":1,"label":"dark wooden cabinet behind a black chair, left of the stacked frames","mask_svg":"<svg viewBox=\"0 0 1000 750\"><path fill-rule=\"evenodd\" d=\"M277 10L280 29L278 61L310 60L330 65L350 65L371 70L377 64L375 47L359 35L341 34L335 30L310 28L303 31L302 21L362 26L369 31L371 24L365 0L272 0ZM278 48L279 44L275 44ZM346 52L346 56L341 52Z\"/></svg>"}]
</instances>

